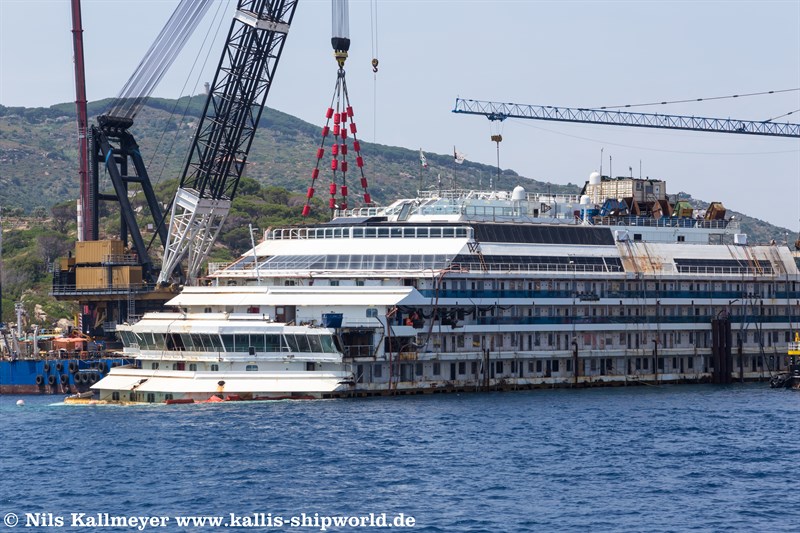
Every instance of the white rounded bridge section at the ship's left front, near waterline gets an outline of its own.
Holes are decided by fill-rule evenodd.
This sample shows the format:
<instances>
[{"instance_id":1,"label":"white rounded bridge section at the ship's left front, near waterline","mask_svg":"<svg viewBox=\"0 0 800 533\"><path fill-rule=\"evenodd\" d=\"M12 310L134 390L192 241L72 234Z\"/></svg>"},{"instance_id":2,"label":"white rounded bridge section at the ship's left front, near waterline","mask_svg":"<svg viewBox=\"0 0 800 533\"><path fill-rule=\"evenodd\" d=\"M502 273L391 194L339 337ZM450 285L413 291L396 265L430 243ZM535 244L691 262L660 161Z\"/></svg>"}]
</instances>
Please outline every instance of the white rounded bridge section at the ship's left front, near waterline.
<instances>
[{"instance_id":1,"label":"white rounded bridge section at the ship's left front, near waterline","mask_svg":"<svg viewBox=\"0 0 800 533\"><path fill-rule=\"evenodd\" d=\"M91 386L101 402L333 398L355 383L327 328L250 313L159 312L117 332L136 365Z\"/></svg>"}]
</instances>

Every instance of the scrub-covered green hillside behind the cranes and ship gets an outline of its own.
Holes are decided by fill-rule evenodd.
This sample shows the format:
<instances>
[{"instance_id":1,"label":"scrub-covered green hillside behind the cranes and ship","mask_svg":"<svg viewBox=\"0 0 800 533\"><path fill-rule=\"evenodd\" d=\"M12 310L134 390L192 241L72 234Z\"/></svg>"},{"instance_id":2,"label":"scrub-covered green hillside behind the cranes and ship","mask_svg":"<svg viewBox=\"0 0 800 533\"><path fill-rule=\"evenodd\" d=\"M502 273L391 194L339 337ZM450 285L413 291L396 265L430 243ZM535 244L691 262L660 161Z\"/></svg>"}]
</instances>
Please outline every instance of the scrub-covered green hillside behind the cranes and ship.
<instances>
[{"instance_id":1,"label":"scrub-covered green hillside behind the cranes and ship","mask_svg":"<svg viewBox=\"0 0 800 533\"><path fill-rule=\"evenodd\" d=\"M132 131L137 137L150 178L161 201L172 198L183 169L184 157L194 136L203 96L168 100L154 98L136 119ZM94 117L110 100L89 104ZM73 103L49 108L12 108L0 106L0 209L2 210L2 321L12 320L15 301L23 301L30 317L40 313L38 322L48 324L52 317L71 316L68 304L47 296L50 284L49 264L63 256L74 244L75 199L78 196L77 142ZM262 116L260 129L250 152L245 178L213 253L213 259L226 261L249 248L248 224L261 230L269 226L301 222L305 190L315 162L320 141L319 127L295 117L268 109ZM452 185L452 155L427 153L428 169L421 169L419 153L406 148L362 142L365 171L374 201L386 204L397 197L413 196L418 188L433 188L441 174L444 187ZM456 186L478 188L496 169L467 161L457 167ZM323 174L324 175L324 174ZM504 170L505 183L525 180L529 192L573 193L578 185L556 185L528 180L512 170ZM323 179L318 188L325 187ZM110 187L106 179L101 187ZM356 179L350 186L353 195L359 189ZM141 195L140 195L141 196ZM313 217L327 215L322 198L315 198L318 209ZM698 208L707 203L689 199ZM134 198L135 207L142 206L141 197ZM357 202L356 202L357 203ZM101 215L110 215L104 207ZM795 236L761 220L732 212L741 222L742 231L751 242L785 240ZM141 215L140 215L141 216ZM102 219L101 236L117 236L118 216ZM142 216L144 226L148 221ZM149 240L150 235L145 235ZM158 248L152 255L160 257ZM37 307L38 306L38 307ZM38 310L38 311L37 311Z\"/></svg>"}]
</instances>

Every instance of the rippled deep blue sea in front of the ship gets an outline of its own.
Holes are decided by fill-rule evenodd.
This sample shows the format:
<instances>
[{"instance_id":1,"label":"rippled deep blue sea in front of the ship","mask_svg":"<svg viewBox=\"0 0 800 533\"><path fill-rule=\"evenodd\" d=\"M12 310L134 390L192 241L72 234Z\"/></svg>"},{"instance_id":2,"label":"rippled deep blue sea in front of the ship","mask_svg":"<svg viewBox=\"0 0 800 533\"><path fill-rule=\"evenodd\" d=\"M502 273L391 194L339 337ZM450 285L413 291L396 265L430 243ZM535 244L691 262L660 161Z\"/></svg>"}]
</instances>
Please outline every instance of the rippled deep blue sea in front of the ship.
<instances>
[{"instance_id":1,"label":"rippled deep blue sea in front of the ship","mask_svg":"<svg viewBox=\"0 0 800 533\"><path fill-rule=\"evenodd\" d=\"M413 516L413 531L798 531L800 393L766 387L167 407L0 396L0 518L385 512ZM222 530L168 526L147 531Z\"/></svg>"}]
</instances>

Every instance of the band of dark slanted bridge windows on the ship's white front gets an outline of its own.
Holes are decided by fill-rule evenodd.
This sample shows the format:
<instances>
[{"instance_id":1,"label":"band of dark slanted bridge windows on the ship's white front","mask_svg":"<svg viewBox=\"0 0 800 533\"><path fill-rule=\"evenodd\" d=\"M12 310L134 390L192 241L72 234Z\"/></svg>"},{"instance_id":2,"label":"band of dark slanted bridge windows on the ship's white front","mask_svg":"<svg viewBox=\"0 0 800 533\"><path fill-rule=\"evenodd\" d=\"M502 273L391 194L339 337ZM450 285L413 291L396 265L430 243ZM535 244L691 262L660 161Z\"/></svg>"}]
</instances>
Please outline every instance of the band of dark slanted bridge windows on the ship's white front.
<instances>
[{"instance_id":1,"label":"band of dark slanted bridge windows on the ship's white front","mask_svg":"<svg viewBox=\"0 0 800 533\"><path fill-rule=\"evenodd\" d=\"M336 352L330 335L205 333L134 333L119 332L125 346L138 345L142 350L197 352Z\"/></svg>"}]
</instances>

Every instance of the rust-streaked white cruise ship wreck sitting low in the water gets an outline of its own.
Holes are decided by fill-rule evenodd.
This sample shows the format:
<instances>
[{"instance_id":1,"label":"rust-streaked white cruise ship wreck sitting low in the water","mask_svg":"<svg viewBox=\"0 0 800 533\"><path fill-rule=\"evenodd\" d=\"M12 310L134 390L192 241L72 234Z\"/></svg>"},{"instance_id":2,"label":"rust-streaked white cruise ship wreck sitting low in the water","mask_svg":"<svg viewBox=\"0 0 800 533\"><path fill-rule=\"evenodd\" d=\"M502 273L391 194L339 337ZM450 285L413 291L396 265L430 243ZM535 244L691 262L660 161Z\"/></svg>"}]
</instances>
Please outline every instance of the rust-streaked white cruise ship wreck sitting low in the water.
<instances>
[{"instance_id":1,"label":"rust-streaked white cruise ship wreck sitting low in the water","mask_svg":"<svg viewBox=\"0 0 800 533\"><path fill-rule=\"evenodd\" d=\"M299 392L313 397L728 383L785 368L798 281L789 248L749 244L721 204L697 212L663 181L593 173L581 195L426 192L270 228L235 263L210 265L209 286L168 302L173 326L154 313L118 329L125 357L178 379L221 362L258 373L266 352L322 372L265 333L322 328L341 357L326 355L326 387ZM204 315L231 322L175 340ZM130 383L112 381L92 388L126 399ZM168 389L146 401L180 396Z\"/></svg>"}]
</instances>

